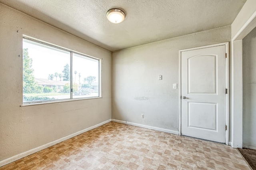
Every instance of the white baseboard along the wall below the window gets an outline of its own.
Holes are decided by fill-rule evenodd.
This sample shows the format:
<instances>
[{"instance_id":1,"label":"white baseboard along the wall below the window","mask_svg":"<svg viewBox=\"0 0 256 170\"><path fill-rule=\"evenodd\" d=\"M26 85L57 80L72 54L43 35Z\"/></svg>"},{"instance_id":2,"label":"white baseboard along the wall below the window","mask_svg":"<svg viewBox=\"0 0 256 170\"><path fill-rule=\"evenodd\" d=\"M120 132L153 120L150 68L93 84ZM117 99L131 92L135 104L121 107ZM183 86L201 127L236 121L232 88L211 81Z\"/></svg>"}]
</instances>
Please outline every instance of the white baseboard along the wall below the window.
<instances>
[{"instance_id":1,"label":"white baseboard along the wall below the window","mask_svg":"<svg viewBox=\"0 0 256 170\"><path fill-rule=\"evenodd\" d=\"M92 127L88 127L88 128L86 128L86 129L84 129L84 130L80 130L80 131L78 131L78 132L75 132L75 133L70 134L70 135L68 135L68 136L65 136L65 137L63 137L63 138L54 140L53 142L49 142L49 143L44 144L44 145L42 145L42 146L38 146L37 148L28 150L28 151L23 152L23 153L21 153L21 154L17 154L17 155L15 155L15 156L12 156L12 157L10 157L10 158L7 158L7 159L5 159L5 160L2 160L2 161L0 161L0 167L1 167L1 166L4 166L4 165L7 165L7 164L10 164L11 162L14 162L14 161L16 161L16 160L19 160L19 159L21 159L21 158L24 158L25 156L34 154L34 153L36 153L36 152L38 152L38 151L40 151L40 150L43 150L43 149L45 149L45 148L49 148L50 146L53 146L54 144L58 144L58 143L60 143L60 142L63 142L64 140L67 140L67 139L69 139L69 138L72 138L72 137L74 137L74 136L77 136L77 135L79 135L79 134L82 134L82 133L84 133L84 132L87 132L87 131L89 131L89 130L92 130L92 129L96 128L96 127L100 127L100 126L102 126L102 125L104 125L104 124L106 124L106 123L109 123L109 122L111 122L111 119L109 119L109 120L107 120L107 121L104 121L104 122L102 122L102 123L99 123L99 124L97 124L97 125L94 125L94 126L92 126Z\"/></svg>"}]
</instances>

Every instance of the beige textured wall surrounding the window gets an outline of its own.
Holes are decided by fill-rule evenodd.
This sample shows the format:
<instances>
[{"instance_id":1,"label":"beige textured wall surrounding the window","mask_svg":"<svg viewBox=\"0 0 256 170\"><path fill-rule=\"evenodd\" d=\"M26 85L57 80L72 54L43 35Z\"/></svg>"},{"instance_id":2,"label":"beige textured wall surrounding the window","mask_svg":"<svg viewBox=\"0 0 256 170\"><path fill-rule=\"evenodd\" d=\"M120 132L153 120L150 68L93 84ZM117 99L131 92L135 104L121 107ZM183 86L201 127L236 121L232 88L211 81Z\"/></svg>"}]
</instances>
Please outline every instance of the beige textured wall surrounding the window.
<instances>
[{"instance_id":1,"label":"beige textured wall surrounding the window","mask_svg":"<svg viewBox=\"0 0 256 170\"><path fill-rule=\"evenodd\" d=\"M22 34L102 59L102 98L20 107ZM0 40L0 161L111 119L109 51L2 4Z\"/></svg>"}]
</instances>

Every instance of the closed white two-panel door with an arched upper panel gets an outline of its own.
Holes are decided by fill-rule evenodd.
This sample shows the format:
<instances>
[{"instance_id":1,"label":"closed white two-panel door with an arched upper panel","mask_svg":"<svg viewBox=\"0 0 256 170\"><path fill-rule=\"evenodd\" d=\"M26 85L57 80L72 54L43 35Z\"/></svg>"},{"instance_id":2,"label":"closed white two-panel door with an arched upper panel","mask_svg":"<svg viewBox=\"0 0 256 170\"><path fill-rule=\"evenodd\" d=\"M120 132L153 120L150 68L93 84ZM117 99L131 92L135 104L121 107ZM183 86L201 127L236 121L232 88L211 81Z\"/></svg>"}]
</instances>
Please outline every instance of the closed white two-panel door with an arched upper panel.
<instances>
[{"instance_id":1,"label":"closed white two-panel door with an arched upper panel","mask_svg":"<svg viewBox=\"0 0 256 170\"><path fill-rule=\"evenodd\" d=\"M225 143L225 45L181 52L181 134Z\"/></svg>"}]
</instances>

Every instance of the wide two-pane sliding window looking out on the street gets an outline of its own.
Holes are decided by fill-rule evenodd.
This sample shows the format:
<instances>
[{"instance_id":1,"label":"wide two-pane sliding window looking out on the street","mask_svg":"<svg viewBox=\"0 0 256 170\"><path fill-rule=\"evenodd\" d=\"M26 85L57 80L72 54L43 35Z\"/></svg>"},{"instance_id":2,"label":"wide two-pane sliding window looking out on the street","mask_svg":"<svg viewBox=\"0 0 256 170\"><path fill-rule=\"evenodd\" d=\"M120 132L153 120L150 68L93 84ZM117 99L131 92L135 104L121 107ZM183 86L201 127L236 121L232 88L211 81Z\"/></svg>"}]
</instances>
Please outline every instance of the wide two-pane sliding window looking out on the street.
<instances>
[{"instance_id":1,"label":"wide two-pane sliding window looking out on the street","mask_svg":"<svg viewBox=\"0 0 256 170\"><path fill-rule=\"evenodd\" d=\"M99 97L100 60L23 37L23 104Z\"/></svg>"}]
</instances>

